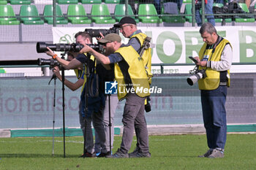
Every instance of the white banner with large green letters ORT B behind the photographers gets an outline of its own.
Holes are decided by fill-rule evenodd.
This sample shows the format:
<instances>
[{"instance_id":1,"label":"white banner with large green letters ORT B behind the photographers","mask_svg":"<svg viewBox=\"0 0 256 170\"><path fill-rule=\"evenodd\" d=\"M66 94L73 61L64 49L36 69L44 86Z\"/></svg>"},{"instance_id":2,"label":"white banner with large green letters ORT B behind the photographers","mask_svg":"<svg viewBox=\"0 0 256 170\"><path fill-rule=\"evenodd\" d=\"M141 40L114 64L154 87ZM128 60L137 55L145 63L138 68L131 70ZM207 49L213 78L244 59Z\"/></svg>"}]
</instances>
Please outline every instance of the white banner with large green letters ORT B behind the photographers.
<instances>
[{"instance_id":1,"label":"white banner with large green letters ORT B behind the photographers","mask_svg":"<svg viewBox=\"0 0 256 170\"><path fill-rule=\"evenodd\" d=\"M255 26L217 26L216 28L219 36L230 41L233 47L233 62L256 62ZM197 56L203 45L199 27L161 27L161 29L159 27L138 27L138 29L152 37L151 43L154 45L152 63L192 63L188 56ZM53 27L53 42L75 42L74 35L78 31L84 31L84 28ZM122 35L121 38L124 43L129 40ZM94 42L97 42L96 39Z\"/></svg>"}]
</instances>

